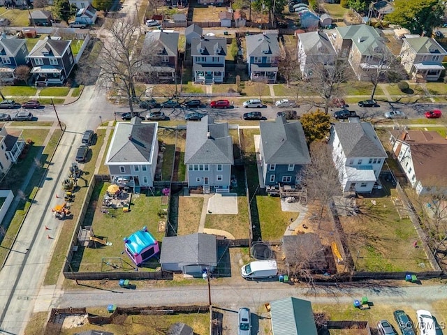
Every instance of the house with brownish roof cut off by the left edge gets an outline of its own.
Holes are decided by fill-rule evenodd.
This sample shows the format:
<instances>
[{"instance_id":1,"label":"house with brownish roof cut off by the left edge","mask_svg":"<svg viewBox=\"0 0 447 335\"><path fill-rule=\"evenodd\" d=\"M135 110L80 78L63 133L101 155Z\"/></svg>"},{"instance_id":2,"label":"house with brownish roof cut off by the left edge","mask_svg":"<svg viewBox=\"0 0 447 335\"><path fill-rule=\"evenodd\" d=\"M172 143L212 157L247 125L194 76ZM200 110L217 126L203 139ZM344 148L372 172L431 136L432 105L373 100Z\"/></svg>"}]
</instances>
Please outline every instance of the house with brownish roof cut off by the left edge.
<instances>
[{"instance_id":1,"label":"house with brownish roof cut off by the left edge","mask_svg":"<svg viewBox=\"0 0 447 335\"><path fill-rule=\"evenodd\" d=\"M0 173L6 174L14 163L17 163L25 147L23 131L8 130L0 125Z\"/></svg>"}]
</instances>

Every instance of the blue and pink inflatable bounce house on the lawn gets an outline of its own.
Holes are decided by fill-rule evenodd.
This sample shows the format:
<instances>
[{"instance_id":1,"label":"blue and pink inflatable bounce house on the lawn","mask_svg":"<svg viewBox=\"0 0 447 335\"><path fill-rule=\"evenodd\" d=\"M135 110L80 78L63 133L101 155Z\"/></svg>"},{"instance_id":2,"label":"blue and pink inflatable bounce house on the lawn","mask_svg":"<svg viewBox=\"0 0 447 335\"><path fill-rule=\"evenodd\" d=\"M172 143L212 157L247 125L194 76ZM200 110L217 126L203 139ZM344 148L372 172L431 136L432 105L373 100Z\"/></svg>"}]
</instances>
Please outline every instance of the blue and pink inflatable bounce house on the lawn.
<instances>
[{"instance_id":1,"label":"blue and pink inflatable bounce house on the lawn","mask_svg":"<svg viewBox=\"0 0 447 335\"><path fill-rule=\"evenodd\" d=\"M146 227L129 237L124 237L124 249L135 265L141 265L160 252L159 241L147 231Z\"/></svg>"}]
</instances>

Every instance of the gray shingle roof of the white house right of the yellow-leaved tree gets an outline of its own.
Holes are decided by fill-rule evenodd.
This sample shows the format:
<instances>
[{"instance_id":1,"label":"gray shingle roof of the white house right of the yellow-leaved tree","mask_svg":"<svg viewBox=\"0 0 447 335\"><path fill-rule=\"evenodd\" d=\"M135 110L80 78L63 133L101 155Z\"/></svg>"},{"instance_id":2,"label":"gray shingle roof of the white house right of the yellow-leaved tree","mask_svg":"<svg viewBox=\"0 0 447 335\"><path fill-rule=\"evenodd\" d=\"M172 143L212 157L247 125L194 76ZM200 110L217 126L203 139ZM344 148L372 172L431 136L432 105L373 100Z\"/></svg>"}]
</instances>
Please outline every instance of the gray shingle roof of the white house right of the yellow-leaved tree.
<instances>
[{"instance_id":1,"label":"gray shingle roof of the white house right of the yellow-leaved tree","mask_svg":"<svg viewBox=\"0 0 447 335\"><path fill-rule=\"evenodd\" d=\"M388 157L385 149L369 122L337 122L334 127L339 137L344 156L349 157Z\"/></svg>"}]
</instances>

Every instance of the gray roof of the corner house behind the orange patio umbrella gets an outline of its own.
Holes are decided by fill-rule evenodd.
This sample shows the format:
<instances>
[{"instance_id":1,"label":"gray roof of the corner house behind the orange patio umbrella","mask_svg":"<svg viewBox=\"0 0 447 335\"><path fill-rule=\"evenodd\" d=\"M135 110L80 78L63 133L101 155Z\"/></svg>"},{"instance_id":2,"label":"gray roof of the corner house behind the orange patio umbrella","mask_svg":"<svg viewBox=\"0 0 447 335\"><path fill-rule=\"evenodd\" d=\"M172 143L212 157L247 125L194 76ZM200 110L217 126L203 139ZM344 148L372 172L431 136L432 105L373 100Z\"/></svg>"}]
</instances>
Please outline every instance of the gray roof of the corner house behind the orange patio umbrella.
<instances>
[{"instance_id":1,"label":"gray roof of the corner house behind the orange patio umbrella","mask_svg":"<svg viewBox=\"0 0 447 335\"><path fill-rule=\"evenodd\" d=\"M105 163L156 163L150 162L156 141L156 122L142 123L134 117L131 123L118 122Z\"/></svg>"}]
</instances>

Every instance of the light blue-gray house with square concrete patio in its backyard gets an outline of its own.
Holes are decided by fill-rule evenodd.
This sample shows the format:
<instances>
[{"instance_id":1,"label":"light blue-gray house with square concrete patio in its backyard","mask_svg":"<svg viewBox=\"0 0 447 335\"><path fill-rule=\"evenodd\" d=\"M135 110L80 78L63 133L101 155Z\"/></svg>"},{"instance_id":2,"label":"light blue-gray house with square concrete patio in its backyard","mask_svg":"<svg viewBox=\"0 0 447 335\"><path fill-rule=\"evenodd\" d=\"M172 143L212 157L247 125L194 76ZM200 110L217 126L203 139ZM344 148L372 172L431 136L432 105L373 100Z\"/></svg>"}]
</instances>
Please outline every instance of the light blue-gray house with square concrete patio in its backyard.
<instances>
[{"instance_id":1,"label":"light blue-gray house with square concrete patio in its backyard","mask_svg":"<svg viewBox=\"0 0 447 335\"><path fill-rule=\"evenodd\" d=\"M203 187L204 193L210 193L210 190L228 193L234 164L228 123L214 124L209 116L200 121L189 121L186 124L184 164L189 187Z\"/></svg>"}]
</instances>

